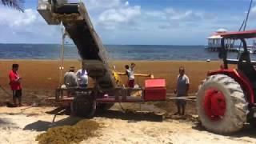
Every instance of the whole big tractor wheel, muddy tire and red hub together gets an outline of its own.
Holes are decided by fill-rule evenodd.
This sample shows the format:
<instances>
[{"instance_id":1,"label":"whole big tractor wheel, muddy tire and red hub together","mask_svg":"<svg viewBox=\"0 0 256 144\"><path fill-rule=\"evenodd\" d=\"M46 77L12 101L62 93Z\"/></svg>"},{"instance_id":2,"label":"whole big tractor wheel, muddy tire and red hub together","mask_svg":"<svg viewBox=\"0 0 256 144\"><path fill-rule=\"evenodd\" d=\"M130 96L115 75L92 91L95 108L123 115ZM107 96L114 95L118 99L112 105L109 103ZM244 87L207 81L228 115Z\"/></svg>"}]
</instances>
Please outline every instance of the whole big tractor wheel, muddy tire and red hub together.
<instances>
[{"instance_id":1,"label":"whole big tractor wheel, muddy tire and red hub together","mask_svg":"<svg viewBox=\"0 0 256 144\"><path fill-rule=\"evenodd\" d=\"M199 86L197 110L206 130L229 134L242 129L248 104L238 82L225 74L216 74Z\"/></svg>"}]
</instances>

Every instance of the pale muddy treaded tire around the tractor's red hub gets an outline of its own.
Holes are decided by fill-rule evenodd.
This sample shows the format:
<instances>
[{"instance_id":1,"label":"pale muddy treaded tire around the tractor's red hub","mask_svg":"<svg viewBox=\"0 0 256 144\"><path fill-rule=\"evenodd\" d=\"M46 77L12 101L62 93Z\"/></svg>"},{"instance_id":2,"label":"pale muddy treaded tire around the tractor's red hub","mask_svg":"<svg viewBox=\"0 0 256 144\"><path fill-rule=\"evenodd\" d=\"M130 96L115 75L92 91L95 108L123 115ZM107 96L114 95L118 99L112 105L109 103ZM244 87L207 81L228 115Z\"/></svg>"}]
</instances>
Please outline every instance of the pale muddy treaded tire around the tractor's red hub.
<instances>
[{"instance_id":1,"label":"pale muddy treaded tire around the tractor's red hub","mask_svg":"<svg viewBox=\"0 0 256 144\"><path fill-rule=\"evenodd\" d=\"M203 106L205 92L211 88L221 91L226 100L225 114L218 121L212 121L206 115ZM248 114L248 103L238 82L235 82L233 78L225 74L216 74L206 78L202 85L199 86L197 110L202 126L206 130L217 134L230 134L242 129Z\"/></svg>"}]
</instances>

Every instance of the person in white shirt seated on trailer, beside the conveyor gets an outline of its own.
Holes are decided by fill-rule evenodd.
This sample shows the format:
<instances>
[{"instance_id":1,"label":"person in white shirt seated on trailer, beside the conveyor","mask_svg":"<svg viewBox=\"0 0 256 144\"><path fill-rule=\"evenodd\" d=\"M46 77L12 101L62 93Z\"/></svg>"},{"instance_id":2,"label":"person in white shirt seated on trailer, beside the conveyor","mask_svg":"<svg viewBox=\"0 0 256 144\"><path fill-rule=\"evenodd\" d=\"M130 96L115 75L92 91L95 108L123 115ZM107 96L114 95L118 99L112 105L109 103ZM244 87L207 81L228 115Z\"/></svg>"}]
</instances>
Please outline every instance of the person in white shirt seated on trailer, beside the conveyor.
<instances>
[{"instance_id":1,"label":"person in white shirt seated on trailer, beside the conveyor","mask_svg":"<svg viewBox=\"0 0 256 144\"><path fill-rule=\"evenodd\" d=\"M88 73L86 71L86 65L84 62L82 62L82 69L78 70L77 73L78 78L78 86L82 88L86 88L88 86Z\"/></svg>"}]
</instances>

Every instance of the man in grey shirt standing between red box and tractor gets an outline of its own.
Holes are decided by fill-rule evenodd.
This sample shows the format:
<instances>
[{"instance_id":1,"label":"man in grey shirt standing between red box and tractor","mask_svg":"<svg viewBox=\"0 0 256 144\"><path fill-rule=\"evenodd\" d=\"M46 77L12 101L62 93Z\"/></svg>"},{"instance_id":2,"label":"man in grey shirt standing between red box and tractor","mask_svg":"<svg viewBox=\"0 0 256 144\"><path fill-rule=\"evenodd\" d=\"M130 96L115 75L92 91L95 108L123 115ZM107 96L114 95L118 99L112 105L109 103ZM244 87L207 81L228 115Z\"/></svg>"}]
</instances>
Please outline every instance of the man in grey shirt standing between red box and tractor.
<instances>
[{"instance_id":1,"label":"man in grey shirt standing between red box and tractor","mask_svg":"<svg viewBox=\"0 0 256 144\"><path fill-rule=\"evenodd\" d=\"M179 75L177 78L177 87L174 91L177 94L177 97L185 97L188 95L188 91L190 88L190 79L185 74L185 68L183 66L179 67ZM178 112L175 114L184 115L186 108L186 100L177 99L176 101ZM182 113L181 113L182 109Z\"/></svg>"}]
</instances>

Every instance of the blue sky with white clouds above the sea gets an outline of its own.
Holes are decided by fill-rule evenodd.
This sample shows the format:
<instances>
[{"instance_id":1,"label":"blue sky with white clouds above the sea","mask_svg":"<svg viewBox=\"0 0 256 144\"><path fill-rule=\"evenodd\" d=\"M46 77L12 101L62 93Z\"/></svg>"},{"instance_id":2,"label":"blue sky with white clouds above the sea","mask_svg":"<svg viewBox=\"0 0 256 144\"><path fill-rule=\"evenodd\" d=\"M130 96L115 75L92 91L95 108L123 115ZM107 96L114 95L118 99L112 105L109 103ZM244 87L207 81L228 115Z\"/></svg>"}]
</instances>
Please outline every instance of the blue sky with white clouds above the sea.
<instances>
[{"instance_id":1,"label":"blue sky with white clouds above the sea","mask_svg":"<svg viewBox=\"0 0 256 144\"><path fill-rule=\"evenodd\" d=\"M70 0L76 2L78 0ZM205 45L224 28L238 30L250 0L83 0L104 44ZM37 0L25 12L0 6L0 43L61 43L61 26L48 26ZM256 1L247 30L256 29Z\"/></svg>"}]
</instances>

